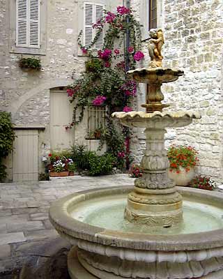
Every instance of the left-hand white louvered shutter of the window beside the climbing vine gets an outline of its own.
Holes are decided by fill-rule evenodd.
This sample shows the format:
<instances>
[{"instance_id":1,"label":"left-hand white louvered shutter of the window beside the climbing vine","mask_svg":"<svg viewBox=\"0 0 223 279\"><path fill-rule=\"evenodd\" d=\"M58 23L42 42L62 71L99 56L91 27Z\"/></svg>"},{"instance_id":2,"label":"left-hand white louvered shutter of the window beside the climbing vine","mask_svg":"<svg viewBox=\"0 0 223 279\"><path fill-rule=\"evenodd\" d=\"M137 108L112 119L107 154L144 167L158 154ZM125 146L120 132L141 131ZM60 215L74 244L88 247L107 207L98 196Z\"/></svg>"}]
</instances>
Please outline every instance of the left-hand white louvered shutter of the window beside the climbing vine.
<instances>
[{"instance_id":1,"label":"left-hand white louvered shutter of the window beside the climbing vine","mask_svg":"<svg viewBox=\"0 0 223 279\"><path fill-rule=\"evenodd\" d=\"M84 3L84 46L89 47L93 41L93 3Z\"/></svg>"}]
</instances>

